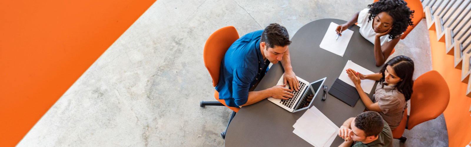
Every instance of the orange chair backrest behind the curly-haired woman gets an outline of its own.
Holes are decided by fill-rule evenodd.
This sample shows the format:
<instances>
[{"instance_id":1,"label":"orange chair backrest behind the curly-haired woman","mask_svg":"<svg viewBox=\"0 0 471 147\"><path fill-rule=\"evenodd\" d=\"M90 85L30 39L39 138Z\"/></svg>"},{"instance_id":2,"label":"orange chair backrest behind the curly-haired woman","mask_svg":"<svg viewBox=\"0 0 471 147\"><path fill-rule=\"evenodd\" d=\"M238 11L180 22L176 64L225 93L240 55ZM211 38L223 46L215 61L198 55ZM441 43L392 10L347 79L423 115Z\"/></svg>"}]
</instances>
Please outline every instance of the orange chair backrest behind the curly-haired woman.
<instances>
[{"instance_id":1,"label":"orange chair backrest behind the curly-haired woman","mask_svg":"<svg viewBox=\"0 0 471 147\"><path fill-rule=\"evenodd\" d=\"M378 0L374 0L373 2L376 2ZM417 26L417 24L419 24L419 22L422 20L423 18L423 7L422 7L422 2L420 0L404 0L407 2L407 7L409 7L411 10L414 10L414 17L412 18L412 24L414 24L414 26ZM406 38L407 34L409 34L412 29L414 29L414 26L409 26L407 27L407 30L406 32L404 32L404 34L402 34L402 37L401 39L404 39Z\"/></svg>"}]
</instances>

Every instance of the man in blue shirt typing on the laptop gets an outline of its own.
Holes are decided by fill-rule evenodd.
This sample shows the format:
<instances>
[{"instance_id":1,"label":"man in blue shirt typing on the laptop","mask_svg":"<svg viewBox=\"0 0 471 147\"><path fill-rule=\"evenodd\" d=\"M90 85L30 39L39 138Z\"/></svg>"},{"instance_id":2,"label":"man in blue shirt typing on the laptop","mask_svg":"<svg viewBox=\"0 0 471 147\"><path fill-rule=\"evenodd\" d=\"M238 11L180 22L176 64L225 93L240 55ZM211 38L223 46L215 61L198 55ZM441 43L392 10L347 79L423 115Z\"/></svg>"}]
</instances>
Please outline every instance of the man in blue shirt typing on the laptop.
<instances>
[{"instance_id":1,"label":"man in blue shirt typing on the laptop","mask_svg":"<svg viewBox=\"0 0 471 147\"><path fill-rule=\"evenodd\" d=\"M216 90L227 106L252 105L273 97L292 98L292 90L299 90L299 82L292 71L288 46L288 31L279 24L270 24L265 30L248 33L237 39L222 59ZM249 91L265 75L269 63L281 61L284 85L260 91ZM286 84L290 89L284 88Z\"/></svg>"}]
</instances>

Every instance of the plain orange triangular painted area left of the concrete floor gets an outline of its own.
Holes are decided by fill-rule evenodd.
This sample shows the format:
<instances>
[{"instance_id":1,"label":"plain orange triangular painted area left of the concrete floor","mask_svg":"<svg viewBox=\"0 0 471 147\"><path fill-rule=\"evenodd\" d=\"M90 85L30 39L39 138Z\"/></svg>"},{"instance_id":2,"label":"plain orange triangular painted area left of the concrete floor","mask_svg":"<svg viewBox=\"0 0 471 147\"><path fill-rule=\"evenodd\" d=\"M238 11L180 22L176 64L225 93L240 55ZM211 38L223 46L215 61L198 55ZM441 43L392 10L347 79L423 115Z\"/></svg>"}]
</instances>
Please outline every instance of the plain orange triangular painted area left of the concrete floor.
<instances>
[{"instance_id":1,"label":"plain orange triangular painted area left of the concrete floor","mask_svg":"<svg viewBox=\"0 0 471 147\"><path fill-rule=\"evenodd\" d=\"M14 147L155 0L0 0L0 143Z\"/></svg>"}]
</instances>

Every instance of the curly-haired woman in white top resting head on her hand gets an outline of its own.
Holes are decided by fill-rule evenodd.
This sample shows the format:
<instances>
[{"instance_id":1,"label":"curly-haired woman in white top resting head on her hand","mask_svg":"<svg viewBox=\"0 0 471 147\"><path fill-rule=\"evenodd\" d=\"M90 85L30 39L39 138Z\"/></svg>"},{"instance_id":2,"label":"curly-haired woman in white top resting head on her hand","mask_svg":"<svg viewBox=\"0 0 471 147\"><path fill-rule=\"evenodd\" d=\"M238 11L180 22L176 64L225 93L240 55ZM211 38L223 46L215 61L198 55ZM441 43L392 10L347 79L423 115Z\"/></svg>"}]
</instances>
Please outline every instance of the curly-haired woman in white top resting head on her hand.
<instances>
[{"instance_id":1,"label":"curly-haired woman in white top resting head on her hand","mask_svg":"<svg viewBox=\"0 0 471 147\"><path fill-rule=\"evenodd\" d=\"M337 26L335 31L341 34L358 23L360 34L374 44L376 66L381 66L407 27L414 25L411 21L413 13L404 0L379 0L355 13L349 22Z\"/></svg>"}]
</instances>

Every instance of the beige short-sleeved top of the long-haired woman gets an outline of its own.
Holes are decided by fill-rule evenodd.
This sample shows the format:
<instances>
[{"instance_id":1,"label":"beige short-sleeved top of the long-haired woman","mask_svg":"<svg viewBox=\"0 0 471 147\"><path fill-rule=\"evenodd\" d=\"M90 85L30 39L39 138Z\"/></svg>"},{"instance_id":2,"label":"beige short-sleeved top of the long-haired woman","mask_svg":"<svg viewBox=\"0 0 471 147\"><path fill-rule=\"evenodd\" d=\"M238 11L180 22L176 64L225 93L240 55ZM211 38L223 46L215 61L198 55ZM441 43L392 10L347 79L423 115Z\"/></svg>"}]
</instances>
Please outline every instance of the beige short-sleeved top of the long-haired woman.
<instances>
[{"instance_id":1,"label":"beige short-sleeved top of the long-haired woman","mask_svg":"<svg viewBox=\"0 0 471 147\"><path fill-rule=\"evenodd\" d=\"M394 88L395 85L387 86L385 83L376 85L376 90L371 98L374 103L378 102L381 111L380 114L384 121L388 122L391 130L398 127L404 116L404 110L407 108L404 94Z\"/></svg>"}]
</instances>

